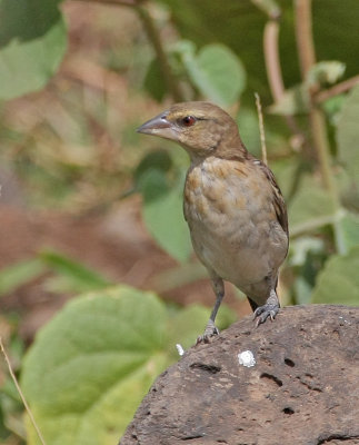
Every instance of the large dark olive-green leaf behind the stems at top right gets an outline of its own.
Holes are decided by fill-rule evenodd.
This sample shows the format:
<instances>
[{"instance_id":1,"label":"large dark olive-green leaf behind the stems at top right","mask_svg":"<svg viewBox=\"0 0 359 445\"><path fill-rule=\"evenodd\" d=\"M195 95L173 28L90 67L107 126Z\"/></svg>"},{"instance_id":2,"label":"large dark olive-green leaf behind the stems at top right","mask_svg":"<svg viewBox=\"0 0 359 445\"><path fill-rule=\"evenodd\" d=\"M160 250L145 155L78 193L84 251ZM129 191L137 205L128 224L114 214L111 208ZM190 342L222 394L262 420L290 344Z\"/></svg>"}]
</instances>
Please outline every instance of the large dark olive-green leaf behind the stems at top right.
<instances>
[{"instance_id":1,"label":"large dark olive-green leaf behind the stems at top right","mask_svg":"<svg viewBox=\"0 0 359 445\"><path fill-rule=\"evenodd\" d=\"M267 16L252 0L162 0L170 6L174 23L181 36L199 47L220 42L235 51L243 62L248 76L248 97L258 91L263 103L271 96L268 88L263 58L263 28ZM262 3L262 2L261 2ZM300 82L295 40L293 2L277 1L281 8L279 21L279 51L287 88ZM346 78L358 73L359 22L358 0L316 0L312 2L313 34L317 60L339 60L347 67ZM333 20L335 18L335 20Z\"/></svg>"}]
</instances>

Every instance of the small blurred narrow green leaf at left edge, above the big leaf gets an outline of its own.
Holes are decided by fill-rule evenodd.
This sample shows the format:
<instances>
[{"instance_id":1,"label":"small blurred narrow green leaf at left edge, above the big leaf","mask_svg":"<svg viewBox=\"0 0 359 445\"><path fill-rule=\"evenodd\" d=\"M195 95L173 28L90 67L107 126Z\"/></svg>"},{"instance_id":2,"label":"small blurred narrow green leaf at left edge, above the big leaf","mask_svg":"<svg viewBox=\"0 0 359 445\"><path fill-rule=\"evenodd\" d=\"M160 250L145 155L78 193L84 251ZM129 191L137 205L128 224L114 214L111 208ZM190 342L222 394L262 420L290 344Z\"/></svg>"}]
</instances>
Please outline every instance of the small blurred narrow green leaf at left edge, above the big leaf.
<instances>
[{"instance_id":1,"label":"small blurred narrow green leaf at left edge, above the big leaf","mask_svg":"<svg viewBox=\"0 0 359 445\"><path fill-rule=\"evenodd\" d=\"M27 259L3 268L0 271L0 296L16 290L44 271L46 266L39 259Z\"/></svg>"}]
</instances>

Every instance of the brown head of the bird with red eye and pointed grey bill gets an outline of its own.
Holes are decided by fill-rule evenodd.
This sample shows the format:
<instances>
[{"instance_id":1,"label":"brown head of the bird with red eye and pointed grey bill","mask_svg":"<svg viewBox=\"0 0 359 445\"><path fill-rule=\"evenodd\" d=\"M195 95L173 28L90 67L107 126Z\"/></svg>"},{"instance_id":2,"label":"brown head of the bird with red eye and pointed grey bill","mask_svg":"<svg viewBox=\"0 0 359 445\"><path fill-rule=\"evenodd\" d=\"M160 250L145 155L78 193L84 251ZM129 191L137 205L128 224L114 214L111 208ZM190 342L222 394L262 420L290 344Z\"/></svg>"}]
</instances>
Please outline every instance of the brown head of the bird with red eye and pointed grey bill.
<instances>
[{"instance_id":1,"label":"brown head of the bird with red eye and pointed grey bill","mask_svg":"<svg viewBox=\"0 0 359 445\"><path fill-rule=\"evenodd\" d=\"M176 103L137 131L173 140L192 159L223 155L222 151L242 146L235 120L210 102Z\"/></svg>"}]
</instances>

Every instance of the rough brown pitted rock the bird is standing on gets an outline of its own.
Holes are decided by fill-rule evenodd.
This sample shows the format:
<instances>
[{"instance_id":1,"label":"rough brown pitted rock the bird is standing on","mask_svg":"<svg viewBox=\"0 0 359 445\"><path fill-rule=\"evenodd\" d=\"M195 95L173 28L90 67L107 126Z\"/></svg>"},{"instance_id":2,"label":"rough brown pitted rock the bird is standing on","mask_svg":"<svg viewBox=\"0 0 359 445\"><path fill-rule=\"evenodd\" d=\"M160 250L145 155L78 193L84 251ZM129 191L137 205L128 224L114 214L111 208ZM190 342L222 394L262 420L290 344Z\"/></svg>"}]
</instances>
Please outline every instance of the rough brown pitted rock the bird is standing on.
<instances>
[{"instance_id":1,"label":"rough brown pitted rock the bird is standing on","mask_svg":"<svg viewBox=\"0 0 359 445\"><path fill-rule=\"evenodd\" d=\"M251 350L256 365L239 364ZM158 377L120 445L359 444L359 308L250 317Z\"/></svg>"}]
</instances>

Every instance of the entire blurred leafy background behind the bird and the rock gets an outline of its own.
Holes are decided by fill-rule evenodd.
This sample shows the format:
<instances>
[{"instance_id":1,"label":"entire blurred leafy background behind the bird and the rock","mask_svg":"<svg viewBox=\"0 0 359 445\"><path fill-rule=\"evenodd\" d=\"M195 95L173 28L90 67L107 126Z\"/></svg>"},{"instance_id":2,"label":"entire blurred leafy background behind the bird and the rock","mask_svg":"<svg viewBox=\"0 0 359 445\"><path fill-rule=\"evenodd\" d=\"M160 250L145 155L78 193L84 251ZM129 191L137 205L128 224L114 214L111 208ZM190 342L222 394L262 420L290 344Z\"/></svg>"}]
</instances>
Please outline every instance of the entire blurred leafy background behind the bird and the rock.
<instances>
[{"instance_id":1,"label":"entire blurred leafy background behind the bird and the rock","mask_svg":"<svg viewBox=\"0 0 359 445\"><path fill-rule=\"evenodd\" d=\"M359 304L357 0L0 0L0 337L47 444L114 444L213 295L187 155L136 134L211 100L289 210L283 305ZM220 327L249 314L231 285ZM0 442L40 443L0 360Z\"/></svg>"}]
</instances>

